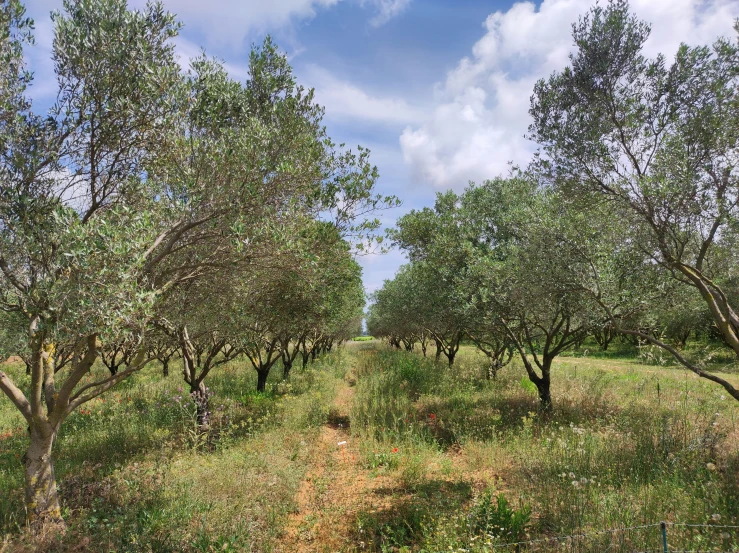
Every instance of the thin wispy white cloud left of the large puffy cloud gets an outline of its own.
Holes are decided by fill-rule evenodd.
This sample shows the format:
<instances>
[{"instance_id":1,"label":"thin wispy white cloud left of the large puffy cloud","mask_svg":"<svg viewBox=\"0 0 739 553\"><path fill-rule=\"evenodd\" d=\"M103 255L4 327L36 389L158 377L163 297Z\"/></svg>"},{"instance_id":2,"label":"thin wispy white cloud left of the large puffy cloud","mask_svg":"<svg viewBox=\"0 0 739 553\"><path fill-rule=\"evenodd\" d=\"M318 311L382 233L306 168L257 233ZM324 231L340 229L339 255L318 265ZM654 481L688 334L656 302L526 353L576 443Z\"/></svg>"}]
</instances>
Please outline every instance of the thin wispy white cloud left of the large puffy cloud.
<instances>
[{"instance_id":1,"label":"thin wispy white cloud left of the large puffy cloud","mask_svg":"<svg viewBox=\"0 0 739 553\"><path fill-rule=\"evenodd\" d=\"M405 100L370 94L316 65L308 66L305 75L306 83L316 89L316 100L326 107L329 119L396 125L423 120L423 111Z\"/></svg>"}]
</instances>

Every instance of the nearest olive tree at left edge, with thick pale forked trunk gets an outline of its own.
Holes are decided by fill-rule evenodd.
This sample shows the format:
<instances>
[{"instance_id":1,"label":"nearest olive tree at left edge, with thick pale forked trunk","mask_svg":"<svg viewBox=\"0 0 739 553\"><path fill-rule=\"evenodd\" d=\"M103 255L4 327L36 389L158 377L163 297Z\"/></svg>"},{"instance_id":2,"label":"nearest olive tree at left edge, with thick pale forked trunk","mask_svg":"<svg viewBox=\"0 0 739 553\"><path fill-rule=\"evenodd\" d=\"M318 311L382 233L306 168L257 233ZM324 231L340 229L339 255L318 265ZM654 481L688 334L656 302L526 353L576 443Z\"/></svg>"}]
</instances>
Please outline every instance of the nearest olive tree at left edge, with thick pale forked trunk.
<instances>
[{"instance_id":1,"label":"nearest olive tree at left edge, with thick pale forked trunk","mask_svg":"<svg viewBox=\"0 0 739 553\"><path fill-rule=\"evenodd\" d=\"M3 98L0 115L8 122L0 129L0 301L23 319L31 372L25 391L0 372L0 389L29 427L31 522L60 520L51 451L64 419L147 361L139 350L126 371L89 378L101 336L138 330L136 314L152 298L136 282L161 230L143 209L152 196L141 174L172 113L163 91L178 79L170 45L177 25L161 6L134 13L120 2L66 2L65 9L54 15L59 93L48 118L22 99L22 10L4 2L0 19L0 34L10 37L1 42L3 80L11 83L0 94L15 96ZM57 341L76 350L59 373L49 355Z\"/></svg>"}]
</instances>

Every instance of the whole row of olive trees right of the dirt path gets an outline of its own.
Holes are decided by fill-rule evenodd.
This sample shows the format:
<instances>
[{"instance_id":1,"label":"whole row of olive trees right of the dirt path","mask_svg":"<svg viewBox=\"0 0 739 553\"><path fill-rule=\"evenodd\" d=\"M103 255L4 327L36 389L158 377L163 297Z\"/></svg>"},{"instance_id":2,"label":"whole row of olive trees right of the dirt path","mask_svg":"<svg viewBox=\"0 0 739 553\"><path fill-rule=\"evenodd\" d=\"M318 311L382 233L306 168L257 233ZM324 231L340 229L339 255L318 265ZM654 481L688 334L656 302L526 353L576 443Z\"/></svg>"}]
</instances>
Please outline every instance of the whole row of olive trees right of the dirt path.
<instances>
[{"instance_id":1,"label":"whole row of olive trees right of the dirt path","mask_svg":"<svg viewBox=\"0 0 739 553\"><path fill-rule=\"evenodd\" d=\"M398 221L410 263L375 293L371 333L428 333L450 364L463 338L492 367L515 350L545 408L552 360L587 336L650 343L739 399L684 351L692 333L739 354L739 45L668 64L642 54L649 30L622 0L573 25L570 66L531 97L536 158Z\"/></svg>"}]
</instances>

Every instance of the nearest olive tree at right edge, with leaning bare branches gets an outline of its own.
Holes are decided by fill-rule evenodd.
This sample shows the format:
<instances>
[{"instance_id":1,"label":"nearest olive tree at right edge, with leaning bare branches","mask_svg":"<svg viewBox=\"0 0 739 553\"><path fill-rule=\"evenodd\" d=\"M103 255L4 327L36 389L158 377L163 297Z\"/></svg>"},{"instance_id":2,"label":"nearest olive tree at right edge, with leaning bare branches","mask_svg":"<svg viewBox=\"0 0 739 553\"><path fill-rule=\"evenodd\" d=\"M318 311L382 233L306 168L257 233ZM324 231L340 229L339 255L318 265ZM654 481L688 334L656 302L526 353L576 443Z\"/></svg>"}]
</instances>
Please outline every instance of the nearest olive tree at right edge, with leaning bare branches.
<instances>
[{"instance_id":1,"label":"nearest olive tree at right edge, with leaning bare branches","mask_svg":"<svg viewBox=\"0 0 739 553\"><path fill-rule=\"evenodd\" d=\"M643 55L649 32L625 0L593 8L573 25L570 65L537 83L529 131L552 182L628 211L643 253L698 291L739 355L739 316L727 292L739 216L739 45L682 45L668 62ZM620 331L664 348L739 400L732 384L676 348Z\"/></svg>"}]
</instances>

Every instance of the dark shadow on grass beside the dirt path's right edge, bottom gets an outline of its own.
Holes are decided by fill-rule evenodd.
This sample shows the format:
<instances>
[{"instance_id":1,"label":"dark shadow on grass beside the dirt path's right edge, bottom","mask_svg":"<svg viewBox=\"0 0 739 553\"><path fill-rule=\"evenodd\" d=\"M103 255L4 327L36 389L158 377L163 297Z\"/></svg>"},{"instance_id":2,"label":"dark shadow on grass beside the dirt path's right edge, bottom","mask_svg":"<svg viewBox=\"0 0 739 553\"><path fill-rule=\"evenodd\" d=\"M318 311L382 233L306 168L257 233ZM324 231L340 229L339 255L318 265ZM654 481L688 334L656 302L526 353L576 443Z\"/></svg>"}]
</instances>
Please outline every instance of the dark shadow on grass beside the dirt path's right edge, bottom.
<instances>
[{"instance_id":1,"label":"dark shadow on grass beside the dirt path's right edge, bottom","mask_svg":"<svg viewBox=\"0 0 739 553\"><path fill-rule=\"evenodd\" d=\"M384 552L419 545L439 517L458 511L472 498L472 485L428 480L412 490L399 487L374 493L398 499L383 509L359 512L354 542L362 550Z\"/></svg>"}]
</instances>

